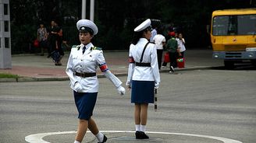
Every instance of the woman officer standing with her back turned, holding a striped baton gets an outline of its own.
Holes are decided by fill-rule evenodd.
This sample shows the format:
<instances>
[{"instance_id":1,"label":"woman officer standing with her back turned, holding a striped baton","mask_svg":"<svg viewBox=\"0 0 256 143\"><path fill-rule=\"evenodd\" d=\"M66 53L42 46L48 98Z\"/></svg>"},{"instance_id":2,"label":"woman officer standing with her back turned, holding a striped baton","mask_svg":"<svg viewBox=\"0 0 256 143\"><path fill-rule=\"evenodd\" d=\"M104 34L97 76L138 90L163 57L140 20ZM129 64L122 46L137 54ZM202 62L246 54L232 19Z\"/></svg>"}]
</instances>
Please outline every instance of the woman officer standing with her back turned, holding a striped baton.
<instances>
[{"instance_id":1,"label":"woman officer standing with her back turned, holding a striped baton","mask_svg":"<svg viewBox=\"0 0 256 143\"><path fill-rule=\"evenodd\" d=\"M126 85L131 88L131 103L135 104L134 118L137 139L147 139L148 103L154 103L154 88L160 75L155 44L150 43L151 20L147 19L134 29L129 52L129 70Z\"/></svg>"}]
</instances>

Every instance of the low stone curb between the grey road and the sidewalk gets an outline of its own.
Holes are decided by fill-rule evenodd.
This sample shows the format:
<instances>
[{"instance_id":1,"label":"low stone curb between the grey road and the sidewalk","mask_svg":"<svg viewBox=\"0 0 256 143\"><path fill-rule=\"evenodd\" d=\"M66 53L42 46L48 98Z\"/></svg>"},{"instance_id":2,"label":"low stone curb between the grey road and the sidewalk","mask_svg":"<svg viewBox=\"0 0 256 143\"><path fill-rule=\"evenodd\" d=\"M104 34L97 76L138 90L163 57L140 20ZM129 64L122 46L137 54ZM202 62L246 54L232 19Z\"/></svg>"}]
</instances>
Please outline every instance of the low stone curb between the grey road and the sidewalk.
<instances>
[{"instance_id":1,"label":"low stone curb between the grey road and the sidewalk","mask_svg":"<svg viewBox=\"0 0 256 143\"><path fill-rule=\"evenodd\" d=\"M195 70L205 70L205 69L212 69L216 67L193 67L193 68L176 68L175 71L195 71ZM160 73L169 72L169 69L162 69ZM116 73L114 74L117 77L127 76L127 73ZM105 78L105 75L97 75L98 78ZM0 78L0 82L50 82L50 81L67 81L69 77L46 77L46 78L30 78L30 77L23 77L23 78Z\"/></svg>"}]
</instances>

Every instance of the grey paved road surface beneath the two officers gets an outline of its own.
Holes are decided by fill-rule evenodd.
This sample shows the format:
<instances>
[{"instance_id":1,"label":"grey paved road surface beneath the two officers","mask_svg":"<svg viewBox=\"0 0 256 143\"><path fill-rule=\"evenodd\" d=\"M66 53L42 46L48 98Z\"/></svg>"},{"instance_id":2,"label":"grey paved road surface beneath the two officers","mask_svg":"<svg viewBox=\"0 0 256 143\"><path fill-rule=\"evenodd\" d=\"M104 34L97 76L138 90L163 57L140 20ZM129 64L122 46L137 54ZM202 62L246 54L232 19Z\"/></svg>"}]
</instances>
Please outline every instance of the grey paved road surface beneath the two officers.
<instances>
[{"instance_id":1,"label":"grey paved road surface beneath the two officers","mask_svg":"<svg viewBox=\"0 0 256 143\"><path fill-rule=\"evenodd\" d=\"M256 71L195 70L161 73L158 112L149 108L147 131L184 133L152 134L137 141L133 133L105 133L108 142L219 143L231 138L256 141ZM126 77L120 77L124 82ZM117 95L106 78L99 78L100 92L94 119L101 131L133 131L130 91ZM0 142L26 142L30 134L76 131L77 113L69 82L0 83ZM187 136L186 134L190 134ZM192 134L211 137L195 137ZM75 134L44 137L49 142L73 142ZM227 142L229 140L226 140ZM84 142L97 142L87 133ZM231 142L229 142L231 143ZM232 143L235 143L233 141Z\"/></svg>"}]
</instances>

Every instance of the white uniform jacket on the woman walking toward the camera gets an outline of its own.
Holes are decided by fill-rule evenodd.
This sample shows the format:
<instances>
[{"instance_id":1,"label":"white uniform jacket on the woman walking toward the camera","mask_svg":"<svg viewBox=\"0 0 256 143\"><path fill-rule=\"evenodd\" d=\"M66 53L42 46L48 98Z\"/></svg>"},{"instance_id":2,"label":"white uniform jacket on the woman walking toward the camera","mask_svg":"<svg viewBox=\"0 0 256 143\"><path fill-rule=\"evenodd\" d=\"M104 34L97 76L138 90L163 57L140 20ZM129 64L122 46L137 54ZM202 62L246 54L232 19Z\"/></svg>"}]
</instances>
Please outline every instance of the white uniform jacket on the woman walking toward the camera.
<instances>
[{"instance_id":1,"label":"white uniform jacket on the woman walking toward the camera","mask_svg":"<svg viewBox=\"0 0 256 143\"><path fill-rule=\"evenodd\" d=\"M75 72L97 72L98 66L101 68L101 72L103 72L104 75L116 86L116 88L118 88L122 82L108 70L108 66L105 63L105 58L103 56L103 51L94 47L94 45L90 43L86 45L86 50L83 54L83 47L84 44L73 47L69 55L66 74L69 76L71 89L76 91L74 85L76 82L79 82L82 86L82 90L80 92L98 92L97 76L83 78L75 75Z\"/></svg>"}]
</instances>

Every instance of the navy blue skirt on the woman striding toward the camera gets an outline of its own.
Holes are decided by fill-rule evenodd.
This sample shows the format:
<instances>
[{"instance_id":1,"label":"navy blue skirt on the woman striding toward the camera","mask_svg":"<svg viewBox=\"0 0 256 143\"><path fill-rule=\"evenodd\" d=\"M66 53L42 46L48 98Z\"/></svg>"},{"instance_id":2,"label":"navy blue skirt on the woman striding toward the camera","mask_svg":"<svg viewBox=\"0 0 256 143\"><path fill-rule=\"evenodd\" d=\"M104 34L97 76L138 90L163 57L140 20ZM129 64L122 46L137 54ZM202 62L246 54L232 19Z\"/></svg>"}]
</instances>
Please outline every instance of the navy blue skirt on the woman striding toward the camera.
<instances>
[{"instance_id":1,"label":"navy blue skirt on the woman striding toward the camera","mask_svg":"<svg viewBox=\"0 0 256 143\"><path fill-rule=\"evenodd\" d=\"M89 120L94 112L94 106L97 100L98 92L76 92L74 98L76 108L79 113L78 118Z\"/></svg>"}]
</instances>

